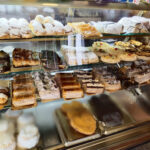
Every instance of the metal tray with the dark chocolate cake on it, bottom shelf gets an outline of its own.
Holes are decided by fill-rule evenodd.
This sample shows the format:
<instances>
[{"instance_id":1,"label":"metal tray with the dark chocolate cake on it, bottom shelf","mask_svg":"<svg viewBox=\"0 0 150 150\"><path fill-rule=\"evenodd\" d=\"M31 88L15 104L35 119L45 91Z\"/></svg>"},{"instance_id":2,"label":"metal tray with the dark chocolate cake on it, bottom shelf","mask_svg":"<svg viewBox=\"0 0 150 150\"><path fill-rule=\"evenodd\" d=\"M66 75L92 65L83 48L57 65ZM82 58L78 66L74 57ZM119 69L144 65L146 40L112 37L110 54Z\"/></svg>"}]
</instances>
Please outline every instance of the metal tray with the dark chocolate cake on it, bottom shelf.
<instances>
[{"instance_id":1,"label":"metal tray with the dark chocolate cake on it, bottom shelf","mask_svg":"<svg viewBox=\"0 0 150 150\"><path fill-rule=\"evenodd\" d=\"M113 134L133 126L132 117L120 109L109 95L93 96L88 101L88 105L97 118L99 128L104 135Z\"/></svg>"}]
</instances>

